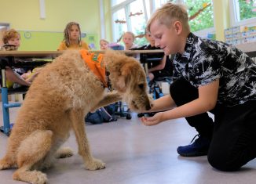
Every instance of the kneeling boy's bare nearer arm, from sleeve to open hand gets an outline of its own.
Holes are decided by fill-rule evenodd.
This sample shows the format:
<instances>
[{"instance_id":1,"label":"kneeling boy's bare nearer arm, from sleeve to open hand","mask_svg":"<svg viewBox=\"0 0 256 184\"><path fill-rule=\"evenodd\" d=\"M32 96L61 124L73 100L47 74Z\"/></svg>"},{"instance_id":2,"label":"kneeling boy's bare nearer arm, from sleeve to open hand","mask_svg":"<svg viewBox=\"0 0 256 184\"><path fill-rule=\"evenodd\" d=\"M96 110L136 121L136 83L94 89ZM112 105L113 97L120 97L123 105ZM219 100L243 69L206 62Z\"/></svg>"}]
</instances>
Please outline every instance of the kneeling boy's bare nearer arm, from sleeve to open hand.
<instances>
[{"instance_id":1,"label":"kneeling boy's bare nearer arm, from sleeve to open hand","mask_svg":"<svg viewBox=\"0 0 256 184\"><path fill-rule=\"evenodd\" d=\"M141 121L145 125L155 125L166 120L191 117L212 110L217 103L218 87L219 80L213 81L208 85L200 86L198 99L172 110L155 114L154 117L142 117Z\"/></svg>"}]
</instances>

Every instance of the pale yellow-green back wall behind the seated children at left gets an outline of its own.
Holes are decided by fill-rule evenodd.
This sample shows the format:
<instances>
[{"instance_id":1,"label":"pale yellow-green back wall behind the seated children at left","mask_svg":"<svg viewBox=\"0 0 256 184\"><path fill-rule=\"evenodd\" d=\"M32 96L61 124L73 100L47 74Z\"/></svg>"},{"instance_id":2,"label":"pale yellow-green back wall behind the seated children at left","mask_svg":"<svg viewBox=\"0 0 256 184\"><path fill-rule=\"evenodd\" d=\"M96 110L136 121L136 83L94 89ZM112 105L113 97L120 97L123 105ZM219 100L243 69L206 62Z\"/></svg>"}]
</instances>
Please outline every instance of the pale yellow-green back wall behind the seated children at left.
<instances>
[{"instance_id":1,"label":"pale yellow-green back wall behind the seated children at left","mask_svg":"<svg viewBox=\"0 0 256 184\"><path fill-rule=\"evenodd\" d=\"M83 40L99 48L98 1L45 0L45 19L40 18L39 0L0 0L0 5L0 23L10 23L10 28L20 31L20 50L56 50L70 21L80 24L82 33L86 33Z\"/></svg>"}]
</instances>

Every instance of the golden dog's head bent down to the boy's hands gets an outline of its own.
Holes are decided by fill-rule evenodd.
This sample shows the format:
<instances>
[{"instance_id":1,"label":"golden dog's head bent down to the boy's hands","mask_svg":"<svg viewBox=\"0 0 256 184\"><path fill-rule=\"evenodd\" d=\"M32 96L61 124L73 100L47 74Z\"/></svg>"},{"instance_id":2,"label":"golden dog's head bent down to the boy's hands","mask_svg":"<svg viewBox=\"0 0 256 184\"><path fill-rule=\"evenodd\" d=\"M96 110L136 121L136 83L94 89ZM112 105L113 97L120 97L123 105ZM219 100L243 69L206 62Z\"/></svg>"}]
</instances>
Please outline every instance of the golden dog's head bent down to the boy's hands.
<instances>
[{"instance_id":1,"label":"golden dog's head bent down to the boy's hands","mask_svg":"<svg viewBox=\"0 0 256 184\"><path fill-rule=\"evenodd\" d=\"M123 99L130 109L137 112L150 110L152 99L147 93L146 74L141 63L114 51L107 51L104 60L112 87L123 93Z\"/></svg>"}]
</instances>

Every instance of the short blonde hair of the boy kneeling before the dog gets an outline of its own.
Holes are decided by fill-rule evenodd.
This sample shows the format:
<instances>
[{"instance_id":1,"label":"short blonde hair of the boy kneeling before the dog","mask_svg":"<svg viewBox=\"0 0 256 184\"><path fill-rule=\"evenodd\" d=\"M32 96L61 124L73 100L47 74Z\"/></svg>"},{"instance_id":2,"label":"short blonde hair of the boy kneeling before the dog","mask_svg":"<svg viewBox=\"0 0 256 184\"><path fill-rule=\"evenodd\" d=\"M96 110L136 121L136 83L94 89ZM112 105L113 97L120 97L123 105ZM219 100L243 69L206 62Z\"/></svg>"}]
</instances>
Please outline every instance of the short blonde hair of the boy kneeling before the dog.
<instances>
[{"instance_id":1,"label":"short blonde hair of the boy kneeling before the dog","mask_svg":"<svg viewBox=\"0 0 256 184\"><path fill-rule=\"evenodd\" d=\"M168 28L170 28L174 21L180 21L183 29L185 29L185 31L190 31L188 25L188 13L185 5L167 2L161 8L156 9L155 13L153 13L151 18L148 20L146 27L148 32L150 32L150 27L155 20Z\"/></svg>"}]
</instances>

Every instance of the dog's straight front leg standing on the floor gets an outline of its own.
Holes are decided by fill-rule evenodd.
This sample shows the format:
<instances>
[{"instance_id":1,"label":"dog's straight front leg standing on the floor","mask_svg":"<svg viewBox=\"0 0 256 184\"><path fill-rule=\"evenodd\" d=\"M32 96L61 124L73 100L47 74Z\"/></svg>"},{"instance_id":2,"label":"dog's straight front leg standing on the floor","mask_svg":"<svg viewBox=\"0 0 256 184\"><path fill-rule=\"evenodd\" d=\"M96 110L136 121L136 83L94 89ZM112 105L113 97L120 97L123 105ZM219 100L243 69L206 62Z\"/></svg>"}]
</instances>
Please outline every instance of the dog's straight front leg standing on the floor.
<instances>
[{"instance_id":1,"label":"dog's straight front leg standing on the floor","mask_svg":"<svg viewBox=\"0 0 256 184\"><path fill-rule=\"evenodd\" d=\"M84 110L82 109L75 109L70 111L70 119L72 121L75 138L79 146L79 154L82 156L82 159L85 162L86 169L97 170L105 168L105 164L102 161L93 158L90 153L90 146L86 137L83 112Z\"/></svg>"}]
</instances>

